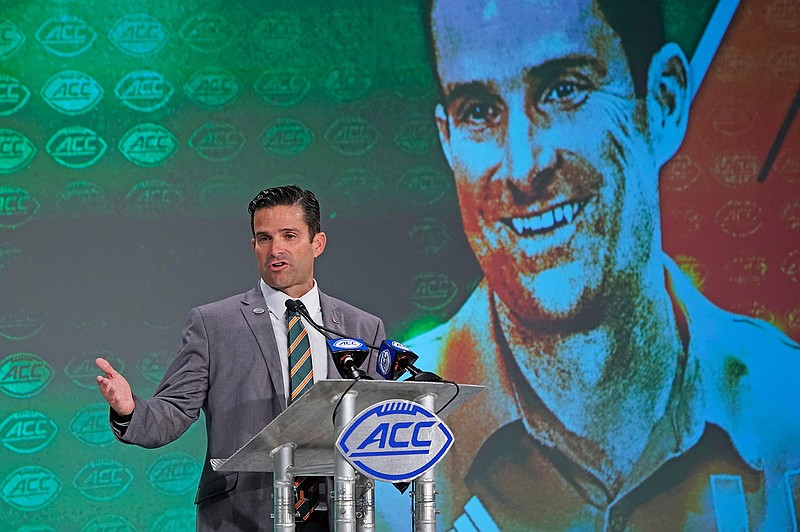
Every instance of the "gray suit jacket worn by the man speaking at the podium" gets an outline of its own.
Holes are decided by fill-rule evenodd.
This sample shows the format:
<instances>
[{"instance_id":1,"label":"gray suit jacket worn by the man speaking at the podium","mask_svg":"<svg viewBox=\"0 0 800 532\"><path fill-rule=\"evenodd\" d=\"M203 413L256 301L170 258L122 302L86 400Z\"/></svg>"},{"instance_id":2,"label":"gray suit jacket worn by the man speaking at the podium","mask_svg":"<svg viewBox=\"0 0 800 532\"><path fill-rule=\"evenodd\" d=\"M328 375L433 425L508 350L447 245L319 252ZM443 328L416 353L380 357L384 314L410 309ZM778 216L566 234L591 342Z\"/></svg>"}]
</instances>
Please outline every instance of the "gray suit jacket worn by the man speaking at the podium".
<instances>
[{"instance_id":1,"label":"gray suit jacket worn by the man speaking at the podium","mask_svg":"<svg viewBox=\"0 0 800 532\"><path fill-rule=\"evenodd\" d=\"M376 345L383 321L320 292L325 327ZM258 284L192 309L175 360L155 395L134 397L125 443L153 448L181 436L205 413L208 446L197 489L198 530L272 530L272 474L217 473L210 458L228 457L286 409L272 323ZM374 378L374 350L362 368ZM328 378L339 373L328 359Z\"/></svg>"}]
</instances>

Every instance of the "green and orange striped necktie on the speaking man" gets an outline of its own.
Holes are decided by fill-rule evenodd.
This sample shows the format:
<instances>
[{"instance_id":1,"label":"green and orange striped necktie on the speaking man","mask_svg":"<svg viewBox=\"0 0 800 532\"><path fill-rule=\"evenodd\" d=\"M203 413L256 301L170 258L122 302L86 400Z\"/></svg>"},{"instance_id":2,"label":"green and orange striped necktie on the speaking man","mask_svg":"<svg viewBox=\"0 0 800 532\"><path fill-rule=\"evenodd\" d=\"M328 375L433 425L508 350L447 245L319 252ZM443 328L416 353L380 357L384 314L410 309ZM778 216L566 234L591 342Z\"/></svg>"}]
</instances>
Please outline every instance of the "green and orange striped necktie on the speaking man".
<instances>
[{"instance_id":1,"label":"green and orange striped necktie on the speaking man","mask_svg":"<svg viewBox=\"0 0 800 532\"><path fill-rule=\"evenodd\" d=\"M297 311L289 313L289 403L293 403L314 385L311 342ZM317 477L295 477L295 516L305 521L319 504Z\"/></svg>"}]
</instances>

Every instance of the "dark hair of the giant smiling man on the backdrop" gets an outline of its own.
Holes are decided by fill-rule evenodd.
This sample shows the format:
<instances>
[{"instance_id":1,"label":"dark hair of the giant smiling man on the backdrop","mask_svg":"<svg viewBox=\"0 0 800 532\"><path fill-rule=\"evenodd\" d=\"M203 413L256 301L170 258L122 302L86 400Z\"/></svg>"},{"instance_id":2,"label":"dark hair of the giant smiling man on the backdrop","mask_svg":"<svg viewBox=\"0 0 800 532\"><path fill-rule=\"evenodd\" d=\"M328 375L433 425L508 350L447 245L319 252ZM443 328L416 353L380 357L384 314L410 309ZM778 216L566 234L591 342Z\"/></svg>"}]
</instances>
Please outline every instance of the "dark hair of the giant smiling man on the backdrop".
<instances>
[{"instance_id":1,"label":"dark hair of the giant smiling man on the backdrop","mask_svg":"<svg viewBox=\"0 0 800 532\"><path fill-rule=\"evenodd\" d=\"M423 0L425 35L430 49L433 74L442 88L436 67L436 37L433 35L433 5L437 0ZM611 29L619 35L628 59L636 96L647 94L650 59L666 43L662 0L594 0ZM532 30L534 31L534 30Z\"/></svg>"}]
</instances>

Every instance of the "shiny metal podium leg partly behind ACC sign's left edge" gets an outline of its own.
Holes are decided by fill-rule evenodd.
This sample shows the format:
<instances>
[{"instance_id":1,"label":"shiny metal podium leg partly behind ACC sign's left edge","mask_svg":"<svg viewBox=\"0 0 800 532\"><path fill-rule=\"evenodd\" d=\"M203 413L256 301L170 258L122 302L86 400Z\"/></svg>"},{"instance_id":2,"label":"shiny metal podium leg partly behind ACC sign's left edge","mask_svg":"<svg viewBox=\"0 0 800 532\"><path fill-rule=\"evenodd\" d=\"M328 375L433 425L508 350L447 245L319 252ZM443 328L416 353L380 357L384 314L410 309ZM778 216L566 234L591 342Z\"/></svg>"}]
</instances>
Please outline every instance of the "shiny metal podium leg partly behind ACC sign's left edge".
<instances>
[{"instance_id":1,"label":"shiny metal podium leg partly behind ACC sign's left edge","mask_svg":"<svg viewBox=\"0 0 800 532\"><path fill-rule=\"evenodd\" d=\"M339 404L334 420L336 434L356 415L356 392L347 392ZM356 470L344 456L333 452L333 525L336 532L356 531Z\"/></svg>"}]
</instances>

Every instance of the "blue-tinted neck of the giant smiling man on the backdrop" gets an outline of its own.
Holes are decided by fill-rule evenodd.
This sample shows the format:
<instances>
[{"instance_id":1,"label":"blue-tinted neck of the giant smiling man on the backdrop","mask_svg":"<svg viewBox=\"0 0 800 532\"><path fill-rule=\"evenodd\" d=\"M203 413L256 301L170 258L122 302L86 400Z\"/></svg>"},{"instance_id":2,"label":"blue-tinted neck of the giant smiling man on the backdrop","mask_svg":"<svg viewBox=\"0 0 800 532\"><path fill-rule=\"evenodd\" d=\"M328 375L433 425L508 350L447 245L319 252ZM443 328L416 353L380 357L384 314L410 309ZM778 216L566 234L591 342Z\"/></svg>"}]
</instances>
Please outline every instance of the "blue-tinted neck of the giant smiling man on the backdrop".
<instances>
[{"instance_id":1,"label":"blue-tinted neck of the giant smiling man on the backdrop","mask_svg":"<svg viewBox=\"0 0 800 532\"><path fill-rule=\"evenodd\" d=\"M500 330L518 368L512 380L526 425L610 492L640 469L643 454L663 454L648 457L659 461L674 449L674 439L656 451L648 447L684 355L659 270L636 290L612 291L624 295L604 301L596 325L584 330L532 331L495 296Z\"/></svg>"}]
</instances>

